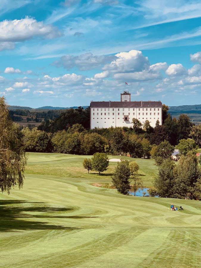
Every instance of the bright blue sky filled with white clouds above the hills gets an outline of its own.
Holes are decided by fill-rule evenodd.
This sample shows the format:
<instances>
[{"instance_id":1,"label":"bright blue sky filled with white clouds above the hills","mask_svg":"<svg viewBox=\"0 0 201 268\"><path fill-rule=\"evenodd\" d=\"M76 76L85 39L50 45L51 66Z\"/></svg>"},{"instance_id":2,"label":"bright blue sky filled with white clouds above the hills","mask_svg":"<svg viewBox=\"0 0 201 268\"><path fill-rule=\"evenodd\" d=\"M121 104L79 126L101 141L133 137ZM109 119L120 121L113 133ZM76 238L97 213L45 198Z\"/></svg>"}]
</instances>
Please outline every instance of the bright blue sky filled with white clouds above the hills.
<instances>
[{"instance_id":1,"label":"bright blue sky filled with white clouds above the hills","mask_svg":"<svg viewBox=\"0 0 201 268\"><path fill-rule=\"evenodd\" d=\"M201 103L200 0L1 0L0 96L9 105Z\"/></svg>"}]
</instances>

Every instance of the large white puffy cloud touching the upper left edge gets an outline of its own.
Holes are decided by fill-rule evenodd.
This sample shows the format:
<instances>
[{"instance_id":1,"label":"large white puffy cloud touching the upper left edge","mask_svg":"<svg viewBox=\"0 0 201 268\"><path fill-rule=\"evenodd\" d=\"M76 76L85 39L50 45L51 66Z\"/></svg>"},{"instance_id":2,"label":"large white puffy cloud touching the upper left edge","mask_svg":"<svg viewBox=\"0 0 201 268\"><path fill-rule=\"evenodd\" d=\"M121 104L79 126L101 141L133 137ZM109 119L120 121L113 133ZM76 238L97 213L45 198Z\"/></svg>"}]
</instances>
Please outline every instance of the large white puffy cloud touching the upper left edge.
<instances>
[{"instance_id":1,"label":"large white puffy cloud touching the upper left edge","mask_svg":"<svg viewBox=\"0 0 201 268\"><path fill-rule=\"evenodd\" d=\"M20 20L0 22L0 42L20 42L34 37L56 38L61 32L52 25L26 17Z\"/></svg>"}]
</instances>

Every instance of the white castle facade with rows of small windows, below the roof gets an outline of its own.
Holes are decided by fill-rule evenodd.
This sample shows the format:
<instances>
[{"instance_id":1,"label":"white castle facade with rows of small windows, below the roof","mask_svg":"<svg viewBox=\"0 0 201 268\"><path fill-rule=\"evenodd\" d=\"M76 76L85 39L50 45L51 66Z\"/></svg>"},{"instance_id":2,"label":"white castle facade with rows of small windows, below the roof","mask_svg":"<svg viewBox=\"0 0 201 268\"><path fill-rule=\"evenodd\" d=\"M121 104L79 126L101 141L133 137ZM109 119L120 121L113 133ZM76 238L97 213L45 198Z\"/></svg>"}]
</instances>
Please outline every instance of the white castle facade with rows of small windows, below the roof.
<instances>
[{"instance_id":1,"label":"white castle facade with rows of small windows, below the roof","mask_svg":"<svg viewBox=\"0 0 201 268\"><path fill-rule=\"evenodd\" d=\"M143 110L144 109L144 110ZM102 113L102 115L101 115ZM124 121L124 116L128 116L128 121ZM132 127L132 119L138 119L142 124L149 120L150 125L155 127L159 120L162 125L162 107L138 107L138 108L91 108L91 129L95 127Z\"/></svg>"}]
</instances>

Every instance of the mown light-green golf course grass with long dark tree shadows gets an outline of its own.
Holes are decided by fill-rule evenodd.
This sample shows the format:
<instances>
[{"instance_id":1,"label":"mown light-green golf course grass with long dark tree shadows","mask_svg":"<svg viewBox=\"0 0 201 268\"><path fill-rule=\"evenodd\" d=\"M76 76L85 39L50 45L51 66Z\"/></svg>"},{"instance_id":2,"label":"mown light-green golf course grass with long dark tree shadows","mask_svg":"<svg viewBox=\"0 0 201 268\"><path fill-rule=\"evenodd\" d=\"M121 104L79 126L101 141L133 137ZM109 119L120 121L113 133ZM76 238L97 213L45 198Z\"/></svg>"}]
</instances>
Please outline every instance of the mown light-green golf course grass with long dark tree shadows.
<instances>
[{"instance_id":1,"label":"mown light-green golf course grass with long dark tree shadows","mask_svg":"<svg viewBox=\"0 0 201 268\"><path fill-rule=\"evenodd\" d=\"M200 201L94 187L116 163L99 176L83 158L29 154L23 189L0 195L0 267L200 267ZM151 186L157 167L136 161ZM184 210L168 210L172 202Z\"/></svg>"}]
</instances>

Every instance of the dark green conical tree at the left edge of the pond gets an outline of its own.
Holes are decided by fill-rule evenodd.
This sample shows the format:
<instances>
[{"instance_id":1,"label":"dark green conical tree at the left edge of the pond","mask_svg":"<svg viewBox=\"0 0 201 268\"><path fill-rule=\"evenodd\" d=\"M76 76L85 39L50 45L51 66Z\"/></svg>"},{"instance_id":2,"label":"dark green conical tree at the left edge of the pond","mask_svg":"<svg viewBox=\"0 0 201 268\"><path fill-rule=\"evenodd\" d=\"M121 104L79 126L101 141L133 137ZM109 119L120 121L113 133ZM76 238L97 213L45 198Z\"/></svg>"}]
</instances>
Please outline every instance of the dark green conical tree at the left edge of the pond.
<instances>
[{"instance_id":1,"label":"dark green conical tree at the left edge of the pond","mask_svg":"<svg viewBox=\"0 0 201 268\"><path fill-rule=\"evenodd\" d=\"M127 194L130 189L130 168L129 162L121 161L117 163L117 167L112 176L112 183L117 191L121 194Z\"/></svg>"}]
</instances>

